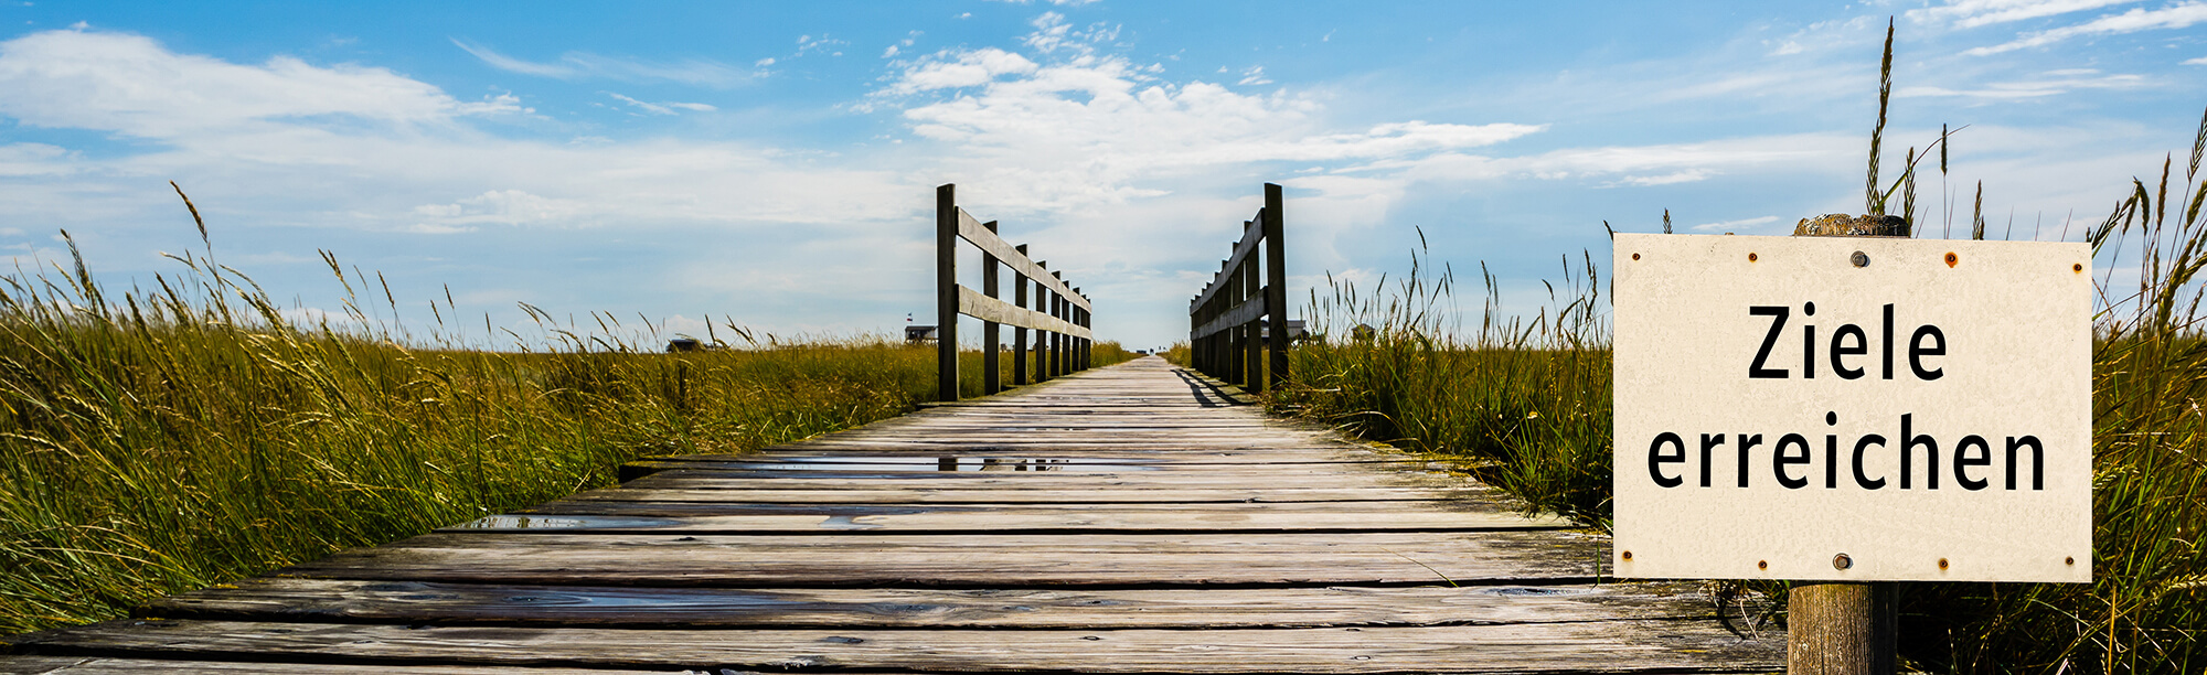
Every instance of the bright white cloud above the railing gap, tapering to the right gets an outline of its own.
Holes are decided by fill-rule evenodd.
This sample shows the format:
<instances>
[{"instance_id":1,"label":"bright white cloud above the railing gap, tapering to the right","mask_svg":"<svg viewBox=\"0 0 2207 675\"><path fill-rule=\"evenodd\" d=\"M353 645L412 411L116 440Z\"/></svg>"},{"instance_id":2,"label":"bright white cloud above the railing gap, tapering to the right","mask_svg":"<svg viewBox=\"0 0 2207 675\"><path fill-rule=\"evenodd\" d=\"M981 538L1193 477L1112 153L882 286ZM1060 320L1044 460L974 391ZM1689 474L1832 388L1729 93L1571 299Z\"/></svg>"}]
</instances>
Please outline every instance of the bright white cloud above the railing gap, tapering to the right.
<instances>
[{"instance_id":1,"label":"bright white cloud above the railing gap, tapering to the right","mask_svg":"<svg viewBox=\"0 0 2207 675\"><path fill-rule=\"evenodd\" d=\"M1035 207L1156 196L1163 192L1134 183L1198 168L1371 161L1492 146L1543 128L1399 121L1329 132L1311 99L1154 82L1121 57L1044 66L993 49L911 64L878 97L907 93L945 97L905 108L916 135L958 143L960 157L1017 185L1017 201Z\"/></svg>"}]
</instances>

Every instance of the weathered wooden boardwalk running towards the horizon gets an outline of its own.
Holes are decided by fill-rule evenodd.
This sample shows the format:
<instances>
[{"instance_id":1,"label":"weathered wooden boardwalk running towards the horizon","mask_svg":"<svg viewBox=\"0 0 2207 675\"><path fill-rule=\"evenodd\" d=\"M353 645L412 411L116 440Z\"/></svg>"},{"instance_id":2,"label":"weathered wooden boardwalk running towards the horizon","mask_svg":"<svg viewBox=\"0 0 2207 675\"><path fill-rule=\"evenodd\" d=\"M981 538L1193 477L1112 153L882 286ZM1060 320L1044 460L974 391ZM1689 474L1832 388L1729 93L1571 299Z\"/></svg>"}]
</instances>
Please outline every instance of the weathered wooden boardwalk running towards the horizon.
<instances>
[{"instance_id":1,"label":"weathered wooden boardwalk running towards the horizon","mask_svg":"<svg viewBox=\"0 0 2207 675\"><path fill-rule=\"evenodd\" d=\"M13 638L0 673L1766 673L1691 585L1156 357Z\"/></svg>"}]
</instances>

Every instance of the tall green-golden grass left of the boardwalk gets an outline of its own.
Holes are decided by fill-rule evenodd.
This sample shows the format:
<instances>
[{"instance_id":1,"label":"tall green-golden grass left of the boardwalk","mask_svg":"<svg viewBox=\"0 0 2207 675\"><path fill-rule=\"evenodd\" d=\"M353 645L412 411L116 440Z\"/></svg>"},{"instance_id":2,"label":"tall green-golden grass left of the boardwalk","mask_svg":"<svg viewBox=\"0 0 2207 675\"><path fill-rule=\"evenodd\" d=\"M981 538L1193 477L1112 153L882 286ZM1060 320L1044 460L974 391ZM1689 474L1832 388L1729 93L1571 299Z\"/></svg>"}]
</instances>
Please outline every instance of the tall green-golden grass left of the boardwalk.
<instances>
[{"instance_id":1,"label":"tall green-golden grass left of the boardwalk","mask_svg":"<svg viewBox=\"0 0 2207 675\"><path fill-rule=\"evenodd\" d=\"M82 258L0 278L0 633L609 485L638 457L744 452L934 397L931 346L651 353L611 324L545 324L552 349L481 351L444 329L395 338L351 293L335 326L296 324L212 251L177 260L126 293ZM364 282L329 262L349 291ZM450 300L433 315L452 318ZM980 395L980 357L960 362Z\"/></svg>"}]
</instances>

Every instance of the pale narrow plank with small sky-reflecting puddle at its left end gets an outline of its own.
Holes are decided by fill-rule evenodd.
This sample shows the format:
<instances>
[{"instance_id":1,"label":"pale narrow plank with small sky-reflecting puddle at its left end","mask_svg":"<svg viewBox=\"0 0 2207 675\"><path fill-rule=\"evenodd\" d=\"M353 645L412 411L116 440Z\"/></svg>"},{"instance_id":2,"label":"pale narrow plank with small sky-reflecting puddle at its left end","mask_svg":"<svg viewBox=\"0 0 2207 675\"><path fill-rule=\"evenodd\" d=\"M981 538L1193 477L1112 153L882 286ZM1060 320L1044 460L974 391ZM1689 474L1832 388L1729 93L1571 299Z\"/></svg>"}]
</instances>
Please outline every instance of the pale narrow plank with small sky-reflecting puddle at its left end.
<instances>
[{"instance_id":1,"label":"pale narrow plank with small sky-reflecting puddle at its left end","mask_svg":"<svg viewBox=\"0 0 2207 675\"><path fill-rule=\"evenodd\" d=\"M1560 529L1571 521L1556 516L1518 516L1507 512L1450 514L1412 510L1342 510L1342 512L1227 512L1227 510L1121 510L1121 512L923 512L923 514L744 514L744 516L541 516L499 514L437 532L589 532L589 534L770 534L770 532L872 532L872 534L951 534L951 532L1492 532L1492 529Z\"/></svg>"}]
</instances>

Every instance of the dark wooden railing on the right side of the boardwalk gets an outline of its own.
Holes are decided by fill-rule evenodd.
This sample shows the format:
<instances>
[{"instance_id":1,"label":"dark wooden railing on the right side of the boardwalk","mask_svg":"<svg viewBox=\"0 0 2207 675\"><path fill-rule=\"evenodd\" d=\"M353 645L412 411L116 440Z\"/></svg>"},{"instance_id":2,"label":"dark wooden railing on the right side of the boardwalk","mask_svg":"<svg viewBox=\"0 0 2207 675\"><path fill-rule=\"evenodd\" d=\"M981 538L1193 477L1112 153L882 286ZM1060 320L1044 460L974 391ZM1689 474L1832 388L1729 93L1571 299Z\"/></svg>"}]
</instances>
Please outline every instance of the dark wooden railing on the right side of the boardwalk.
<instances>
[{"instance_id":1,"label":"dark wooden railing on the right side of the boardwalk","mask_svg":"<svg viewBox=\"0 0 2207 675\"><path fill-rule=\"evenodd\" d=\"M1287 379L1287 267L1280 229L1280 185L1265 183L1265 207L1256 218L1243 221L1234 254L1187 304L1187 344L1196 371L1251 393ZM1258 265L1258 258L1267 265ZM1271 331L1265 331L1267 320Z\"/></svg>"}]
</instances>

